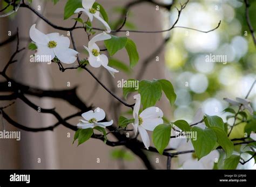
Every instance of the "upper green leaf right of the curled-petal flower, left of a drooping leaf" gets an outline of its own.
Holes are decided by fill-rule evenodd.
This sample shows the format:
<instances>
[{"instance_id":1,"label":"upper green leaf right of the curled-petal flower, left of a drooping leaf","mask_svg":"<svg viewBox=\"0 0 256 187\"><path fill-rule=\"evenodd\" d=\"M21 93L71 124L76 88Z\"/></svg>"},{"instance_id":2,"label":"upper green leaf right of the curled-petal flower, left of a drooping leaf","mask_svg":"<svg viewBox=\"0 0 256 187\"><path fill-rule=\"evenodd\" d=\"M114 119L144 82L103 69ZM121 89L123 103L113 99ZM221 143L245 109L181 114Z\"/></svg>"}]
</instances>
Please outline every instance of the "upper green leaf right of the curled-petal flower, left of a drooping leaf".
<instances>
[{"instance_id":1,"label":"upper green leaf right of the curled-petal flower, left of a drooping leaf","mask_svg":"<svg viewBox=\"0 0 256 187\"><path fill-rule=\"evenodd\" d=\"M126 46L126 43L126 37L116 37L115 35L111 35L111 39L109 40L104 40L104 44L110 56L113 56L120 49L124 48Z\"/></svg>"}]
</instances>

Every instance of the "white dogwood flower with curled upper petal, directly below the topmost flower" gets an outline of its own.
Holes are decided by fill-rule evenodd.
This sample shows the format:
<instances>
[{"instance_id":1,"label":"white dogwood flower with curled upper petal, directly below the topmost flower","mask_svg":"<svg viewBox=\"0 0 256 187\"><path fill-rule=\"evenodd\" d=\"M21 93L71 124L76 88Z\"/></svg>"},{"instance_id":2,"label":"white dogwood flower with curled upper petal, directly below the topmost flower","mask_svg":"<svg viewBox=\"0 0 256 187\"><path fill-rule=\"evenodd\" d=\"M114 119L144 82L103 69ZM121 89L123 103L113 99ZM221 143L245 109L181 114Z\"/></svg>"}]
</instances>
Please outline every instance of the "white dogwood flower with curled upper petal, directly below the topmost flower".
<instances>
[{"instance_id":1,"label":"white dogwood flower with curled upper petal, directly below the topmost flower","mask_svg":"<svg viewBox=\"0 0 256 187\"><path fill-rule=\"evenodd\" d=\"M100 54L100 49L97 46L97 44L95 44L95 42L97 41L108 40L110 38L111 38L111 35L105 32L100 33L89 41L88 47L84 46L84 48L89 53L88 61L92 67L98 68L100 66L103 66L114 77L114 73L118 73L119 71L107 66L107 64L109 63L109 59L105 54Z\"/></svg>"}]
</instances>

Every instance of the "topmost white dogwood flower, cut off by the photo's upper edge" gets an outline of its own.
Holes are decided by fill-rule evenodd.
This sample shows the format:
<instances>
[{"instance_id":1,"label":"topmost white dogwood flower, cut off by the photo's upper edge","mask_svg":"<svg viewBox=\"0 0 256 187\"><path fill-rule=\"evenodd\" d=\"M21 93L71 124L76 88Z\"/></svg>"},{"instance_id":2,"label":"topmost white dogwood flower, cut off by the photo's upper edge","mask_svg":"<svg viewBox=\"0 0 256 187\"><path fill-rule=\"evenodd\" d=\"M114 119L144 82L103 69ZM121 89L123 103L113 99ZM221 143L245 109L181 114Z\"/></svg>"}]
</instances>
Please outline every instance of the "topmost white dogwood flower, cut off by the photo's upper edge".
<instances>
[{"instance_id":1,"label":"topmost white dogwood flower, cut off by the photo's upper edge","mask_svg":"<svg viewBox=\"0 0 256 187\"><path fill-rule=\"evenodd\" d=\"M106 27L106 32L110 33L111 28L110 28L109 24L107 24L106 21L99 16L98 10L92 8L92 5L94 3L95 3L95 0L83 0L83 2L82 2L83 8L76 9L74 13L84 12L89 17L90 21L92 21L93 17L95 17L100 22L102 22L102 24Z\"/></svg>"}]
</instances>

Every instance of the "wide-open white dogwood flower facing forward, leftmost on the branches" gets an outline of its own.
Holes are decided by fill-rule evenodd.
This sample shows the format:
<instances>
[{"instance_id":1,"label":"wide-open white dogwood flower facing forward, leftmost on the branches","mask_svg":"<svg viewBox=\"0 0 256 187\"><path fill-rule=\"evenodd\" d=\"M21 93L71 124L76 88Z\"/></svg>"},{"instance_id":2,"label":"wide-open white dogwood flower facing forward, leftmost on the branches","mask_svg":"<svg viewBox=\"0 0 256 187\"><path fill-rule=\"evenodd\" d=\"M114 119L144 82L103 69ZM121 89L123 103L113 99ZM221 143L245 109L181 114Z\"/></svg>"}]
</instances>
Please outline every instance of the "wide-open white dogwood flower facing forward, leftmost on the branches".
<instances>
[{"instance_id":1,"label":"wide-open white dogwood flower facing forward, leftmost on the branches","mask_svg":"<svg viewBox=\"0 0 256 187\"><path fill-rule=\"evenodd\" d=\"M36 55L40 57L38 61L44 62L44 57L51 61L55 56L63 63L70 64L76 61L78 52L69 48L68 37L59 33L44 34L36 29L36 24L31 26L29 35L37 46Z\"/></svg>"}]
</instances>

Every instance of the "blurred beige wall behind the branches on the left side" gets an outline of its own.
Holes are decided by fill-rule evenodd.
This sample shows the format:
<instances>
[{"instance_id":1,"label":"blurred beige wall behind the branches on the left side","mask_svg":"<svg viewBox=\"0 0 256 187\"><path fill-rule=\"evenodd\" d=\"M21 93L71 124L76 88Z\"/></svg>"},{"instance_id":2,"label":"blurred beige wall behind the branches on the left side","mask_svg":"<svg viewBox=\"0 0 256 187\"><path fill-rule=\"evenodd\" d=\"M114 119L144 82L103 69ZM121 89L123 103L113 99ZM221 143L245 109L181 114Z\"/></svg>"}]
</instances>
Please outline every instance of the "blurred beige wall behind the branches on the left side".
<instances>
[{"instance_id":1,"label":"blurred beige wall behind the branches on the left side","mask_svg":"<svg viewBox=\"0 0 256 187\"><path fill-rule=\"evenodd\" d=\"M48 19L59 26L72 26L73 20L63 21L64 5L66 1L60 1L57 5L53 6L50 1L33 1L33 6L42 6L41 13ZM118 0L101 0L98 1L104 6L109 13L110 20L118 18L117 13L112 13L114 6L123 6L129 1ZM129 21L132 21L139 30L160 30L161 29L161 13L156 11L156 8L147 3L140 4L131 10L132 17ZM85 17L85 15L83 15ZM28 9L19 9L16 17L13 20L7 18L0 19L0 41L7 38L6 32L12 30L15 32L16 27L19 27L19 33L21 37L21 46L28 46L30 42L29 28L32 24L37 24L37 28L44 33L59 32L63 35L67 35L64 31L58 31L47 25L43 20L38 19ZM98 27L102 26L97 24ZM75 35L75 41L78 47L78 51L82 53L82 46L87 45L87 36L83 30L76 30L73 32ZM125 33L123 33L125 34ZM122 34L118 34L122 35ZM122 96L122 89L117 88L117 81L122 78L127 79L135 77L140 69L141 63L148 55L150 55L156 46L160 45L163 41L162 34L142 34L142 33L130 33L130 38L133 39L138 48L140 55L140 61L138 65L133 69L134 74L127 76L124 73L116 74L116 78L110 77L107 71L103 68L92 68L95 75L100 76L102 82L111 88L118 96ZM11 52L13 51L15 42L12 45L8 45L0 48L2 69L5 62L8 60ZM104 90L97 82L86 72L77 70L68 70L65 73L59 71L57 64L42 64L42 63L30 63L29 56L31 51L25 50L21 55L21 61L16 63L9 72L9 75L15 80L23 82L24 84L44 89L67 89L67 83L70 82L71 87L78 86L79 97L89 106L101 107L105 110L107 116L113 117L116 120L115 108L111 103L116 102ZM152 80L153 78L164 78L164 56L163 53L158 55L159 62L153 61L147 67L144 74L145 79ZM81 55L85 57L85 55ZM129 62L125 51L120 51L115 55L116 59L122 59L124 62ZM2 79L1 79L2 80ZM97 90L92 93L93 88L97 85ZM93 96L93 97L91 97ZM49 98L33 98L29 97L33 102L39 106L45 108L56 107L56 111L60 113L62 117L69 116L72 113L77 112L75 107L70 106L68 103L59 99ZM132 103L130 98L128 103ZM4 103L3 103L4 104ZM2 103L1 103L2 105ZM165 98L161 99L157 104L165 113L169 112L169 104L167 104ZM126 107L122 106L122 111L127 111ZM33 111L29 106L24 105L20 100L17 100L16 104L10 109L6 110L11 117L19 121L19 123L30 127L44 127L50 126L56 122L50 114L39 114ZM86 111L85 111L86 112ZM116 111L118 114L120 111ZM168 115L167 115L168 116ZM69 122L73 125L77 124L75 118ZM6 121L5 121L6 123ZM2 127L1 127L2 128ZM8 130L13 130L10 124L6 123ZM69 137L69 133L71 133ZM57 127L53 132L40 132L31 133L22 131L22 139L17 142L15 140L0 140L0 168L1 169L118 169L120 164L116 160L110 158L110 151L116 148L106 146L102 141L91 139L88 142L80 145L72 145L72 138L74 132L65 128L64 126ZM110 139L113 137L110 136ZM160 162L156 163L156 168L163 169L165 167L166 158L160 157L159 154L149 154L152 163L155 163L157 157L160 158ZM135 156L136 157L136 156ZM100 159L100 163L97 163L97 158ZM38 159L41 163L38 163ZM126 161L124 163L125 169L144 169L144 164L138 158L134 161Z\"/></svg>"}]
</instances>

